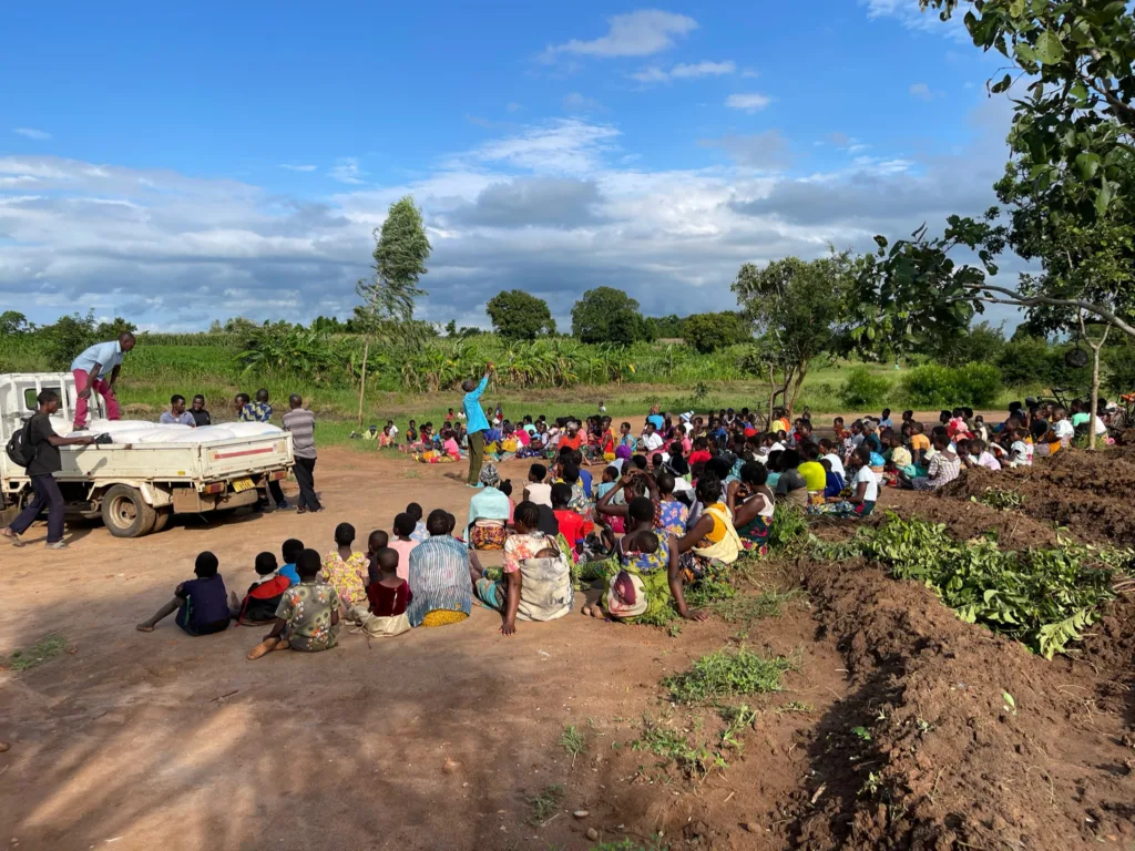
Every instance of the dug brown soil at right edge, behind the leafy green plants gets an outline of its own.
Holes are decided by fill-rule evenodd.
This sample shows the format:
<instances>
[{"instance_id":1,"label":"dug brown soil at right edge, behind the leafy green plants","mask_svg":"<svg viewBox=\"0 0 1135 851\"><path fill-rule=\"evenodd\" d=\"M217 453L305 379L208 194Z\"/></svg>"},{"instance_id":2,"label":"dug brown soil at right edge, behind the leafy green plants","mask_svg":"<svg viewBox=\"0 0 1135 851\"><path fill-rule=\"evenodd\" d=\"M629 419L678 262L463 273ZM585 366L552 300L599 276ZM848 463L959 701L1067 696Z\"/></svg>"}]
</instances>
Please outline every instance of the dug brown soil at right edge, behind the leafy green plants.
<instances>
[{"instance_id":1,"label":"dug brown soil at right edge, behind the leafy green plants","mask_svg":"<svg viewBox=\"0 0 1135 851\"><path fill-rule=\"evenodd\" d=\"M1113 540L1123 546L1135 536L1135 512L1126 488L1133 480L1135 446L1094 453L1071 449L1051 458L1037 458L1031 467L1000 472L967 470L945 486L942 494L968 500L991 488L1015 490L1025 502L1020 509L1007 514L1065 526L1082 540Z\"/></svg>"}]
</instances>

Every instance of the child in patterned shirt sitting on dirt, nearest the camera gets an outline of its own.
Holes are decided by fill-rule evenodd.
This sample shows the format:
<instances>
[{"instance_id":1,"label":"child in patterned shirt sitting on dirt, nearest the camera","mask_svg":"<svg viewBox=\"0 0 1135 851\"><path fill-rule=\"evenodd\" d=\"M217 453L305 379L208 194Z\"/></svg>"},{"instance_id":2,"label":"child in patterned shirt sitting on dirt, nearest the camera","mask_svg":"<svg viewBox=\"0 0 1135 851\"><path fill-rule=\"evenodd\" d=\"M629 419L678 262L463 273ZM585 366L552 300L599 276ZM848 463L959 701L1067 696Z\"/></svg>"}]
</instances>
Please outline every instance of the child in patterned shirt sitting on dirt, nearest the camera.
<instances>
[{"instance_id":1,"label":"child in patterned shirt sitting on dirt, nearest the camera","mask_svg":"<svg viewBox=\"0 0 1135 851\"><path fill-rule=\"evenodd\" d=\"M305 549L300 554L296 571L300 584L284 592L276 609L276 624L264 640L249 652L259 659L272 650L314 652L335 647L338 641L339 596L333 585L319 581L319 553Z\"/></svg>"}]
</instances>

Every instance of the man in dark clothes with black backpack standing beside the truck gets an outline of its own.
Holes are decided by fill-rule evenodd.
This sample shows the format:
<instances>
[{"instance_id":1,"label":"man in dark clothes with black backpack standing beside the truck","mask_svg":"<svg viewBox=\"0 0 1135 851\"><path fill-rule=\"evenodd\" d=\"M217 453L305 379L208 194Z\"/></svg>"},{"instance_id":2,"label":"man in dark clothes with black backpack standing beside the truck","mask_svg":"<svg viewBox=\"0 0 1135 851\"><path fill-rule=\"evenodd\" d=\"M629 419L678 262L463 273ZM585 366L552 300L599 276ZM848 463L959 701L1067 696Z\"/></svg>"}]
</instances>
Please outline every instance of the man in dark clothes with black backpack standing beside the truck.
<instances>
[{"instance_id":1,"label":"man in dark clothes with black backpack standing beside the truck","mask_svg":"<svg viewBox=\"0 0 1135 851\"><path fill-rule=\"evenodd\" d=\"M59 395L54 390L43 390L35 401L40 403L39 410L32 415L24 427L24 439L35 453L32 463L27 465L27 474L32 479L32 490L35 498L27 504L10 526L0 532L14 546L23 547L24 541L19 539L40 512L48 509L48 549L67 549L64 541L64 495L59 492L53 473L62 470L62 461L59 457L60 446L91 446L94 438L86 437L59 437L51 428L51 414L59 410Z\"/></svg>"}]
</instances>

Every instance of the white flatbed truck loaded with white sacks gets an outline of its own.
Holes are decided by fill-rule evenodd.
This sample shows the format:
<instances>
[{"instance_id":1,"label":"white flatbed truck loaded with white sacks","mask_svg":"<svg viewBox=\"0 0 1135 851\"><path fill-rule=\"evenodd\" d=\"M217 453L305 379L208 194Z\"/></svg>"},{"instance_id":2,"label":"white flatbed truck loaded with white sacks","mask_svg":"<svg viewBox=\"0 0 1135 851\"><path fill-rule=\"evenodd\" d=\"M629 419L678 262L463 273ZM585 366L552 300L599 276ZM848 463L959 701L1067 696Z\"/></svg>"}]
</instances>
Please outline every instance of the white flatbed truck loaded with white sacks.
<instances>
[{"instance_id":1,"label":"white flatbed truck loaded with white sacks","mask_svg":"<svg viewBox=\"0 0 1135 851\"><path fill-rule=\"evenodd\" d=\"M31 498L27 471L14 464L2 447L35 412L41 390L59 394L52 426L60 436L68 435L77 398L69 372L0 374L0 528L11 523ZM91 415L104 415L101 398L92 396ZM118 538L159 532L174 514L254 505L259 489L286 478L293 465L292 436L286 432L201 444L65 446L60 455L62 471L56 481L68 513L101 516Z\"/></svg>"}]
</instances>

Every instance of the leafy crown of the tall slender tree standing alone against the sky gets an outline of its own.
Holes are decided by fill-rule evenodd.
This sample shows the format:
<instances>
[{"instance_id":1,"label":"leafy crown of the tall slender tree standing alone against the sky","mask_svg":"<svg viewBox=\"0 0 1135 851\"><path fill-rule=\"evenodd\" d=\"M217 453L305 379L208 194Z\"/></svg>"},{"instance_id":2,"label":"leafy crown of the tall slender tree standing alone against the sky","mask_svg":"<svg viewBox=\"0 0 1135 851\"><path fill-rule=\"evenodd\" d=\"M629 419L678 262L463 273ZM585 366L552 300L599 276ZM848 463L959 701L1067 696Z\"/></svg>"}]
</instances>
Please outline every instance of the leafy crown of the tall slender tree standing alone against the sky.
<instances>
[{"instance_id":1,"label":"leafy crown of the tall slender tree standing alone against the sky","mask_svg":"<svg viewBox=\"0 0 1135 851\"><path fill-rule=\"evenodd\" d=\"M410 327L414 303L426 290L418 286L427 272L429 238L422 222L421 210L414 207L412 195L395 201L381 228L375 229L373 277L360 280L355 292L362 298L355 307L355 320L364 328L384 322Z\"/></svg>"}]
</instances>

